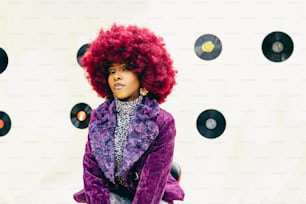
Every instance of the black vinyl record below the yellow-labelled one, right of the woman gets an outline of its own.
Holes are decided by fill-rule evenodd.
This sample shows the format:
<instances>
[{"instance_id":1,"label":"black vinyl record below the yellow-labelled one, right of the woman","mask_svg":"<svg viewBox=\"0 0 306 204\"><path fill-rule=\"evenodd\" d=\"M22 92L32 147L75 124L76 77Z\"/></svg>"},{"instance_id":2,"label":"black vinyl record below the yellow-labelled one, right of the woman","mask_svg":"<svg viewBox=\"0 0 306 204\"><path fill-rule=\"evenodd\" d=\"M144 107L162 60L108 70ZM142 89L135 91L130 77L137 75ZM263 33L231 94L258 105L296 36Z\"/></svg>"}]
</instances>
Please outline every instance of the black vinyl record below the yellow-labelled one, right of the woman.
<instances>
[{"instance_id":1,"label":"black vinyl record below the yellow-labelled one, right of the woman","mask_svg":"<svg viewBox=\"0 0 306 204\"><path fill-rule=\"evenodd\" d=\"M205 110L197 119L197 129L206 138L219 137L224 132L225 126L225 118L217 110Z\"/></svg>"}]
</instances>

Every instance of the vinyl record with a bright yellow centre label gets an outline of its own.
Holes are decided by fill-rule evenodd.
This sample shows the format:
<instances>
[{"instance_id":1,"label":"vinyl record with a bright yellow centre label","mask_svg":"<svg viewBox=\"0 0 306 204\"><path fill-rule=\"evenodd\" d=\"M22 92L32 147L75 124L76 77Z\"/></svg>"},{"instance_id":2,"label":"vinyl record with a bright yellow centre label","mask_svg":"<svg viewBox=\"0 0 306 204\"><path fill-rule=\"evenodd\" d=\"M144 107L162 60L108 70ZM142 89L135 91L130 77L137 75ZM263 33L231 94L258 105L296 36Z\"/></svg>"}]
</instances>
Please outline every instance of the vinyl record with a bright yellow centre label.
<instances>
[{"instance_id":1,"label":"vinyl record with a bright yellow centre label","mask_svg":"<svg viewBox=\"0 0 306 204\"><path fill-rule=\"evenodd\" d=\"M203 60L213 60L220 55L222 43L217 36L205 34L195 41L194 51Z\"/></svg>"}]
</instances>

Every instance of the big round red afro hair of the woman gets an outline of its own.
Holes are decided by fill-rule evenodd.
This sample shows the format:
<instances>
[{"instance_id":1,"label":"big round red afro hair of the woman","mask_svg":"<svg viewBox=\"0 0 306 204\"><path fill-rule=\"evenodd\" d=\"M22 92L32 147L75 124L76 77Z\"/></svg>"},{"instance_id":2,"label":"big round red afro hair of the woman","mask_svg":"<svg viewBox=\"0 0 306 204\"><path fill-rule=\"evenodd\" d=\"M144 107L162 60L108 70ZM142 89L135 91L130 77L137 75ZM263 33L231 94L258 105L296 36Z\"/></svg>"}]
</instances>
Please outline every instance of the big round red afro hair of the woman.
<instances>
[{"instance_id":1,"label":"big round red afro hair of the woman","mask_svg":"<svg viewBox=\"0 0 306 204\"><path fill-rule=\"evenodd\" d=\"M176 70L161 37L147 28L134 25L112 25L100 30L81 59L87 79L102 98L112 98L108 85L108 67L112 63L126 63L137 73L141 87L158 103L165 101L176 84Z\"/></svg>"}]
</instances>

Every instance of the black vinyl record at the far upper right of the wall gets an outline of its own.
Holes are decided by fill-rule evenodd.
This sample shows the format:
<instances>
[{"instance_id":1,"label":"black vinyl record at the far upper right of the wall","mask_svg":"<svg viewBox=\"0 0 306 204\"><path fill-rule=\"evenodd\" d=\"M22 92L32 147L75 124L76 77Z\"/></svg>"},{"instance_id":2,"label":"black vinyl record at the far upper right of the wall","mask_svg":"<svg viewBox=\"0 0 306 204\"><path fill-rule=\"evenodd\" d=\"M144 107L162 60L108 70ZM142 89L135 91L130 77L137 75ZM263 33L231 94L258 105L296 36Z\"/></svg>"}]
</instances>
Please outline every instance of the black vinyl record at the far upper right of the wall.
<instances>
[{"instance_id":1,"label":"black vinyl record at the far upper right of the wall","mask_svg":"<svg viewBox=\"0 0 306 204\"><path fill-rule=\"evenodd\" d=\"M283 62L293 52L293 41L283 32L272 32L262 42L264 56L272 62Z\"/></svg>"}]
</instances>

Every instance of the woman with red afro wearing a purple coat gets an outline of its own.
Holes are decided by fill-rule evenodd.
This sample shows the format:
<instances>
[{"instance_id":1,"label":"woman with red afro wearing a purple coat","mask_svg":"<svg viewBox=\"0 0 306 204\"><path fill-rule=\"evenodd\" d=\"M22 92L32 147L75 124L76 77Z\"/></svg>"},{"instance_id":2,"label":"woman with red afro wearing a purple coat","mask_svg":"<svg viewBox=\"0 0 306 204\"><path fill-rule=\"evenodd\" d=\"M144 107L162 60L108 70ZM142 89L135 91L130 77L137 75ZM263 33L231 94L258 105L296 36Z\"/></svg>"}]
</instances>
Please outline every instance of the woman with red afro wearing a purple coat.
<instances>
[{"instance_id":1,"label":"woman with red afro wearing a purple coat","mask_svg":"<svg viewBox=\"0 0 306 204\"><path fill-rule=\"evenodd\" d=\"M160 204L183 200L171 176L172 115L160 108L176 71L162 39L146 28L101 29L82 58L87 78L106 100L91 113L83 159L87 204Z\"/></svg>"}]
</instances>

